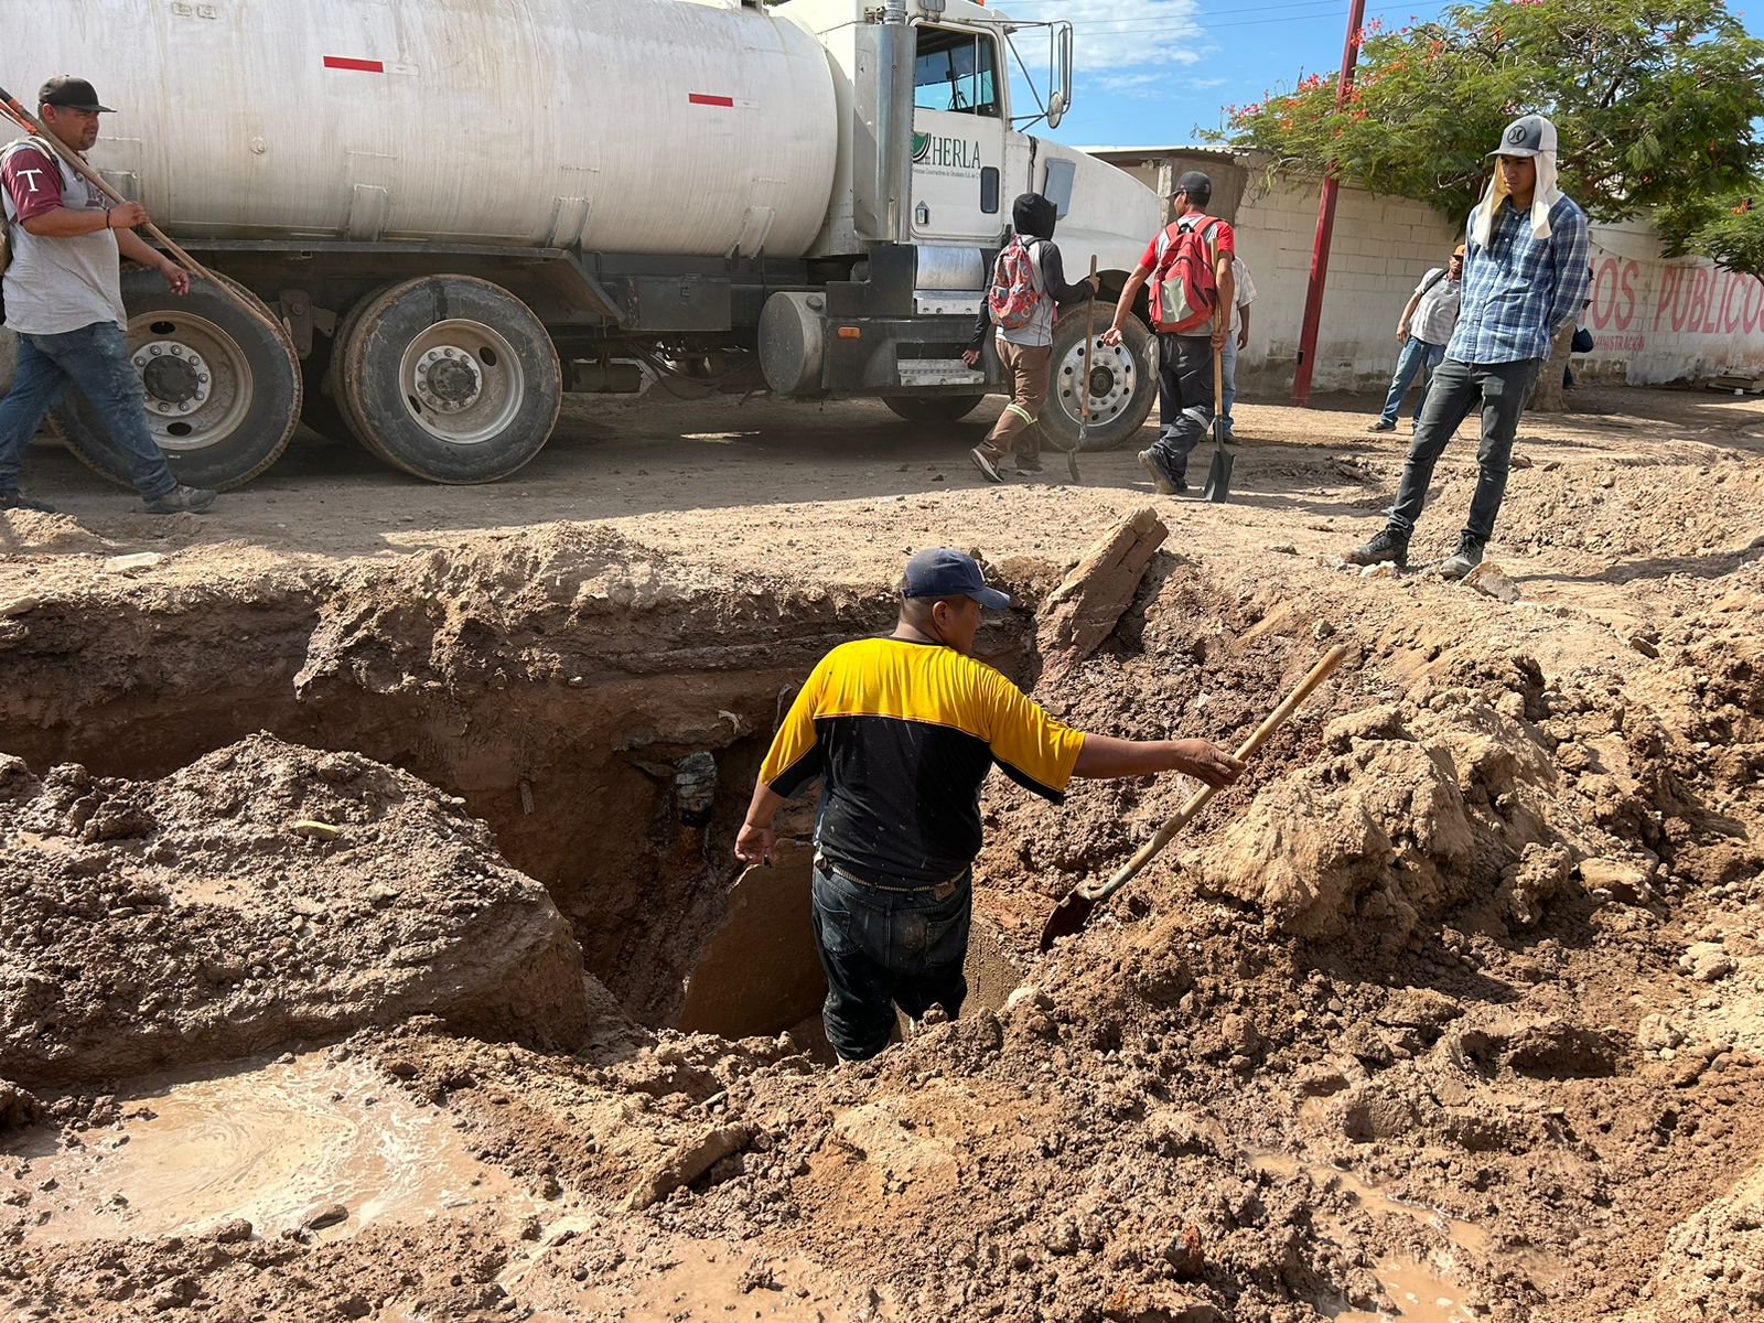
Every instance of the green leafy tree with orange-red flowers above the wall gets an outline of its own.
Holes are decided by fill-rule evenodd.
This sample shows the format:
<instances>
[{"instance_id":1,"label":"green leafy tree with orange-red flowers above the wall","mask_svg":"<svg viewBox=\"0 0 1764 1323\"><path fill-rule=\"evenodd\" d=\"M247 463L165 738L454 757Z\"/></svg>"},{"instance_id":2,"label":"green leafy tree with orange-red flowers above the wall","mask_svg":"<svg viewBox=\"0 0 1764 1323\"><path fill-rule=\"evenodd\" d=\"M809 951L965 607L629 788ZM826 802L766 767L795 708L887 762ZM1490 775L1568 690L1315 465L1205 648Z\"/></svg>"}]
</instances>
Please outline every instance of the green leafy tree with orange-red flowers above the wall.
<instances>
[{"instance_id":1,"label":"green leafy tree with orange-red flowers above the wall","mask_svg":"<svg viewBox=\"0 0 1764 1323\"><path fill-rule=\"evenodd\" d=\"M1501 129L1544 113L1561 187L1598 220L1741 192L1764 176L1764 41L1722 0L1492 0L1369 23L1341 108L1311 74L1226 108L1215 141L1334 171L1462 220ZM1764 194L1760 194L1764 196ZM1755 224L1755 222L1753 222Z\"/></svg>"}]
</instances>

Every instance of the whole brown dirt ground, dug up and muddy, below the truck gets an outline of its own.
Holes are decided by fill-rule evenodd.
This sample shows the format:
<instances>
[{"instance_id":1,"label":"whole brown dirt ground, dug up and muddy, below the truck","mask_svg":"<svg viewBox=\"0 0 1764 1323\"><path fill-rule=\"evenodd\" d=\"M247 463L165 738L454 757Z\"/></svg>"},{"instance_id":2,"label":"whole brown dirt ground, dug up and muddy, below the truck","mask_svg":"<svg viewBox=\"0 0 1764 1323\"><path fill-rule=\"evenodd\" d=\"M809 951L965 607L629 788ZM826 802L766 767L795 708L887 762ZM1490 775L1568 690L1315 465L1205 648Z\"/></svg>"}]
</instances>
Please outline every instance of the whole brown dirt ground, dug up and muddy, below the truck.
<instances>
[{"instance_id":1,"label":"whole brown dirt ground, dug up and muddy, below the truck","mask_svg":"<svg viewBox=\"0 0 1764 1323\"><path fill-rule=\"evenodd\" d=\"M206 520L32 455L76 513L0 517L0 1314L1764 1314L1764 406L1577 407L1524 427L1514 600L1422 561L1462 441L1422 566L1339 564L1402 455L1346 402L1240 406L1228 506L1131 452L986 487L868 406L572 402L469 490L310 446ZM729 843L937 543L1085 729L1235 743L1351 658L1050 954L1191 787L995 778L984 991L831 1067L801 868Z\"/></svg>"}]
</instances>

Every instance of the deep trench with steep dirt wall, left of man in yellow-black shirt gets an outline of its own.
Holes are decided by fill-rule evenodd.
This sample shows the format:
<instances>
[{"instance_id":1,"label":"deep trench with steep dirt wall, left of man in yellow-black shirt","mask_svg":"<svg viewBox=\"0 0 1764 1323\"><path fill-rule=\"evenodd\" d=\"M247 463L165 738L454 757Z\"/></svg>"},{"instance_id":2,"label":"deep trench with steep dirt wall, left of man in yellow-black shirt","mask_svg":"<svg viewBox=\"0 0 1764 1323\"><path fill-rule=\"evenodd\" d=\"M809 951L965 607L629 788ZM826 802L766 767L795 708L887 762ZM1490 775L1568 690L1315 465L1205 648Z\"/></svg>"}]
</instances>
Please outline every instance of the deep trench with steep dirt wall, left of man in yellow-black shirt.
<instances>
[{"instance_id":1,"label":"deep trench with steep dirt wall, left of man in yellow-black shirt","mask_svg":"<svg viewBox=\"0 0 1764 1323\"><path fill-rule=\"evenodd\" d=\"M489 824L640 1023L801 1025L824 995L808 852L787 845L732 886L734 829L794 686L827 647L887 628L889 591L646 602L653 570L624 566L596 598L580 547L547 556L554 593L538 602L499 602L534 570L519 556L482 582L436 556L441 593L418 570L44 603L11 639L0 748L37 774L72 762L134 781L256 732L360 753ZM979 651L1032 679L1032 621L1005 616ZM808 826L804 804L780 820ZM975 961L977 997L998 1004L1014 983L986 933Z\"/></svg>"}]
</instances>

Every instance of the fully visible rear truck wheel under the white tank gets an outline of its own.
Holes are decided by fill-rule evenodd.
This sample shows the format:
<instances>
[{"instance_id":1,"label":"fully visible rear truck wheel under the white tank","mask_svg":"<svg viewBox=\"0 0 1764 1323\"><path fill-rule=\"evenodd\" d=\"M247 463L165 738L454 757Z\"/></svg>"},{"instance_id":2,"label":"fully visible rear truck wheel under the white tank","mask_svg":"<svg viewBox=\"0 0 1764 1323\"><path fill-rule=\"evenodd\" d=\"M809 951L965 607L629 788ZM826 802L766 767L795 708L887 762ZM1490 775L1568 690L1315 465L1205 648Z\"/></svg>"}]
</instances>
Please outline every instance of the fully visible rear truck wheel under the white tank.
<instances>
[{"instance_id":1,"label":"fully visible rear truck wheel under the white tank","mask_svg":"<svg viewBox=\"0 0 1764 1323\"><path fill-rule=\"evenodd\" d=\"M332 372L362 445L429 482L506 478L540 453L563 404L545 326L469 275L425 275L363 300L339 328Z\"/></svg>"}]
</instances>

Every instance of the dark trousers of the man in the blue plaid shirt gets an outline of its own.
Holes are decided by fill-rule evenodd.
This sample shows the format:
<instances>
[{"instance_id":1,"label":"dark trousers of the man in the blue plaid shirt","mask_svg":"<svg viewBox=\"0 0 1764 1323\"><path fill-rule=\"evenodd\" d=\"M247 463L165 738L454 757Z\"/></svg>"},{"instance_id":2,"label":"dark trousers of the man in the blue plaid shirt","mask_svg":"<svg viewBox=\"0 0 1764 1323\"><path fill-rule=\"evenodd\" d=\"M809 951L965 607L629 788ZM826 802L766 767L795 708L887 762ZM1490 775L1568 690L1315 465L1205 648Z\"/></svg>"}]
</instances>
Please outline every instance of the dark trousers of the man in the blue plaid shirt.
<instances>
[{"instance_id":1,"label":"dark trousers of the man in the blue plaid shirt","mask_svg":"<svg viewBox=\"0 0 1764 1323\"><path fill-rule=\"evenodd\" d=\"M1469 522L1464 536L1485 545L1494 536L1494 517L1501 512L1506 494L1506 475L1514 462L1514 434L1519 415L1531 397L1542 358L1524 358L1517 363L1464 363L1446 358L1427 386L1427 404L1415 423L1409 441L1409 459L1402 466L1402 485L1397 503L1390 508L1390 531L1402 538L1415 533L1427 503L1427 483L1434 464L1445 452L1459 423L1469 411L1482 406L1482 445L1476 450L1476 494L1469 499Z\"/></svg>"}]
</instances>

